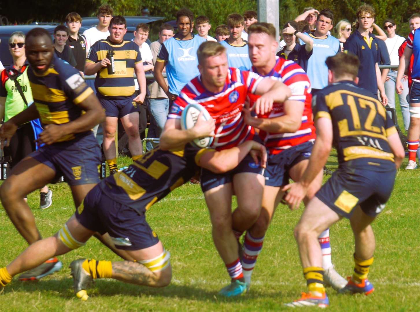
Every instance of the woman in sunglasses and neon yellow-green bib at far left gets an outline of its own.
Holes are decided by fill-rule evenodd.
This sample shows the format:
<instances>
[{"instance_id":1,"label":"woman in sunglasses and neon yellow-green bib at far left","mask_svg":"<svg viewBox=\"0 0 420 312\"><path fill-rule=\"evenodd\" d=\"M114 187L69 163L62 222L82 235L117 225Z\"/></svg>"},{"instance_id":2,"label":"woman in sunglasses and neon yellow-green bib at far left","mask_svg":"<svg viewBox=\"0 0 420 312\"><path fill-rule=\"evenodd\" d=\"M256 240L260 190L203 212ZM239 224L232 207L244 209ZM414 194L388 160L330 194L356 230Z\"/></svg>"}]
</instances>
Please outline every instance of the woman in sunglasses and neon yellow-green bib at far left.
<instances>
[{"instance_id":1,"label":"woman in sunglasses and neon yellow-green bib at far left","mask_svg":"<svg viewBox=\"0 0 420 312\"><path fill-rule=\"evenodd\" d=\"M13 58L13 65L6 67L0 74L0 121L8 121L14 115L31 105L34 100L32 97L32 89L29 84L27 69L29 63L26 61L25 55L25 34L16 31L9 38L9 51ZM25 97L23 99L18 88L20 85L21 92ZM5 147L4 155L11 157L11 168L35 149L34 123L25 123L16 131L12 137L9 147ZM40 127L37 127L40 129ZM41 209L51 206L51 197L53 192L44 186L40 190Z\"/></svg>"}]
</instances>

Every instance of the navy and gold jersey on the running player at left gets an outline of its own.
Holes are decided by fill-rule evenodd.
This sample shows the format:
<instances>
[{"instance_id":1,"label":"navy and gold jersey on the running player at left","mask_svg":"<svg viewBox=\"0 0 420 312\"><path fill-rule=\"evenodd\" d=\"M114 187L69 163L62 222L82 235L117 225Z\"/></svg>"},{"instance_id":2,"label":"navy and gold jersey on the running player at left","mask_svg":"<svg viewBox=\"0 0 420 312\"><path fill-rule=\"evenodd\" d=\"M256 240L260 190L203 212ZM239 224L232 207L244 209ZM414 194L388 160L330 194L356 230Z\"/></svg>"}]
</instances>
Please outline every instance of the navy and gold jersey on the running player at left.
<instances>
[{"instance_id":1,"label":"navy and gold jersey on the running player at left","mask_svg":"<svg viewBox=\"0 0 420 312\"><path fill-rule=\"evenodd\" d=\"M55 56L42 75L29 66L28 78L42 124L61 125L79 118L83 110L78 104L93 93L77 69ZM89 132L68 134L58 142L69 141Z\"/></svg>"}]
</instances>

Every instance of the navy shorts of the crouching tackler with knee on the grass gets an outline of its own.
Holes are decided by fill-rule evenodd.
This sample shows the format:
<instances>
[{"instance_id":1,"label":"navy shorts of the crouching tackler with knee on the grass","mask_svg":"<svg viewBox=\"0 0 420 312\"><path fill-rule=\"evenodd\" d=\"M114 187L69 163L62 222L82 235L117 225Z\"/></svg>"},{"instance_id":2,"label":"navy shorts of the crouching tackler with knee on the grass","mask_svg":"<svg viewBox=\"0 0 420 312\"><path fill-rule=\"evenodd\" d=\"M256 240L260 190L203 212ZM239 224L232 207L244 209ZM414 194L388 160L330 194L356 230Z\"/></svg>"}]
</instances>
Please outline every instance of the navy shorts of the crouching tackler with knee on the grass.
<instances>
[{"instance_id":1,"label":"navy shorts of the crouching tackler with knee on the grass","mask_svg":"<svg viewBox=\"0 0 420 312\"><path fill-rule=\"evenodd\" d=\"M111 236L115 247L139 250L159 242L156 233L146 221L144 212L139 213L129 206L115 202L100 186L95 186L76 209L76 218L85 228Z\"/></svg>"}]
</instances>

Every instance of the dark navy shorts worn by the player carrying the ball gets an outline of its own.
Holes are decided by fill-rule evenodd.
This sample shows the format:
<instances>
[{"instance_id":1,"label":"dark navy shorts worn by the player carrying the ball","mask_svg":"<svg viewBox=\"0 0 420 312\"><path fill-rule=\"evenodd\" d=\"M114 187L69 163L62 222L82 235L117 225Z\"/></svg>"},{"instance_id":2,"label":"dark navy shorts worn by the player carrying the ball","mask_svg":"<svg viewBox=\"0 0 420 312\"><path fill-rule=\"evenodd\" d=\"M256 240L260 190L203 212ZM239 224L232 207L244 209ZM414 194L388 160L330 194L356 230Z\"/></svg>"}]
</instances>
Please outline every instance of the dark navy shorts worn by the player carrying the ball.
<instances>
[{"instance_id":1,"label":"dark navy shorts worn by the player carrying the ball","mask_svg":"<svg viewBox=\"0 0 420 312\"><path fill-rule=\"evenodd\" d=\"M236 166L236 168L226 172L226 173L213 173L210 170L202 168L200 183L201 189L203 192L213 189L216 186L228 184L233 181L234 175L238 173L257 173L263 174L264 168L260 165L256 165L252 157L248 154L245 158Z\"/></svg>"}]
</instances>

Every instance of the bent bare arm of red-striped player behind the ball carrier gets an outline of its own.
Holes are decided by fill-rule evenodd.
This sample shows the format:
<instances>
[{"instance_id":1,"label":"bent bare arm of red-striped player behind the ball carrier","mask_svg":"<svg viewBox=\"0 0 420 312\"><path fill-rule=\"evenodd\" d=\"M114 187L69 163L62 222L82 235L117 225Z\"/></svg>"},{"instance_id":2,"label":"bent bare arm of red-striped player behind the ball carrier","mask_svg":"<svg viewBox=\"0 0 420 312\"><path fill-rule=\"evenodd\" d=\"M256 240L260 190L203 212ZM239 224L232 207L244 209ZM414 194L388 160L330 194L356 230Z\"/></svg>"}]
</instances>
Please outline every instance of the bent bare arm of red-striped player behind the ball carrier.
<instances>
[{"instance_id":1,"label":"bent bare arm of red-striped player behind the ball carrier","mask_svg":"<svg viewBox=\"0 0 420 312\"><path fill-rule=\"evenodd\" d=\"M283 103L284 115L275 118L255 118L248 107L242 111L244 121L253 126L272 133L294 133L299 130L302 123L304 103L295 100L286 100Z\"/></svg>"}]
</instances>

